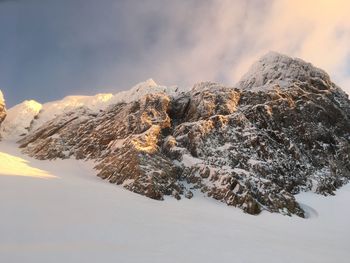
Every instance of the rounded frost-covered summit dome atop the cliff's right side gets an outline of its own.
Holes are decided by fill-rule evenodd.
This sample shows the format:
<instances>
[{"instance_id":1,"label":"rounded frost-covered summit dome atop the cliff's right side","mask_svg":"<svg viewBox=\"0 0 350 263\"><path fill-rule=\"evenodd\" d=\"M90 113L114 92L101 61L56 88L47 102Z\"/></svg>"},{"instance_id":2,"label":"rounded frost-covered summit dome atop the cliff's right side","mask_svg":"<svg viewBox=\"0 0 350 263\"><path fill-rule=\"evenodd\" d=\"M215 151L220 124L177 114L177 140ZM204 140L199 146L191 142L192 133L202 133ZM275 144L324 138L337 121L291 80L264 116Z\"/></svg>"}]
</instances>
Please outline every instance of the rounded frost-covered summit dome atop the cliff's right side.
<instances>
[{"instance_id":1,"label":"rounded frost-covered summit dome atop the cliff's right side","mask_svg":"<svg viewBox=\"0 0 350 263\"><path fill-rule=\"evenodd\" d=\"M287 88L295 82L330 84L329 75L322 69L299 58L270 51L256 61L241 78L241 89L268 89L274 85Z\"/></svg>"}]
</instances>

